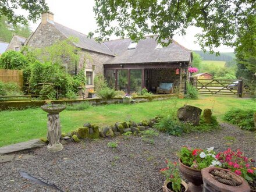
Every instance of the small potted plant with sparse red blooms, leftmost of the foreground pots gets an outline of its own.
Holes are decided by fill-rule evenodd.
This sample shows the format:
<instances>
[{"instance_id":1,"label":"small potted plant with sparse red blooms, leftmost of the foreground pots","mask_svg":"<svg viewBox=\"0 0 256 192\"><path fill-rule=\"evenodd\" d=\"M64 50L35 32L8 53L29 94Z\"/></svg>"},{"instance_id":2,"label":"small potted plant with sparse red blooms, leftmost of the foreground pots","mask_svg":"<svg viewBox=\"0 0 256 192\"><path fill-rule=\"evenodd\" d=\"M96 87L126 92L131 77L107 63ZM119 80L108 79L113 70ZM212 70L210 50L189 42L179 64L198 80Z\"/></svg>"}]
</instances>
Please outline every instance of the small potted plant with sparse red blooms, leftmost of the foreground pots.
<instances>
[{"instance_id":1,"label":"small potted plant with sparse red blooms, leftmost of the foreground pots","mask_svg":"<svg viewBox=\"0 0 256 192\"><path fill-rule=\"evenodd\" d=\"M163 187L163 192L175 191L184 192L187 191L187 183L185 183L180 177L179 165L177 162L171 162L166 160L167 167L160 170L160 172L165 175L165 183Z\"/></svg>"}]
</instances>

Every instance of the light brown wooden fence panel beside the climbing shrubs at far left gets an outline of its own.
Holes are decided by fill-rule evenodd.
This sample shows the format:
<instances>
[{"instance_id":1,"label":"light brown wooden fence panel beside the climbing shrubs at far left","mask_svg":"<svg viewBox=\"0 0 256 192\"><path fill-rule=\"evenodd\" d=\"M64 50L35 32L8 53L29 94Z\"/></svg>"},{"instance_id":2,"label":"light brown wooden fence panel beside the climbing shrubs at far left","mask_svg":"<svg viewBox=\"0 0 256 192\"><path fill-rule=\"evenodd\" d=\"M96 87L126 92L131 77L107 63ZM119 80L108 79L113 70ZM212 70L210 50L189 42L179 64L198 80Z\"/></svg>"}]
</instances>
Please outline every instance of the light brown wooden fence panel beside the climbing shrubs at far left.
<instances>
[{"instance_id":1,"label":"light brown wooden fence panel beside the climbing shrubs at far left","mask_svg":"<svg viewBox=\"0 0 256 192\"><path fill-rule=\"evenodd\" d=\"M23 71L22 70L10 70L0 69L0 81L5 83L14 82L22 90L23 87Z\"/></svg>"}]
</instances>

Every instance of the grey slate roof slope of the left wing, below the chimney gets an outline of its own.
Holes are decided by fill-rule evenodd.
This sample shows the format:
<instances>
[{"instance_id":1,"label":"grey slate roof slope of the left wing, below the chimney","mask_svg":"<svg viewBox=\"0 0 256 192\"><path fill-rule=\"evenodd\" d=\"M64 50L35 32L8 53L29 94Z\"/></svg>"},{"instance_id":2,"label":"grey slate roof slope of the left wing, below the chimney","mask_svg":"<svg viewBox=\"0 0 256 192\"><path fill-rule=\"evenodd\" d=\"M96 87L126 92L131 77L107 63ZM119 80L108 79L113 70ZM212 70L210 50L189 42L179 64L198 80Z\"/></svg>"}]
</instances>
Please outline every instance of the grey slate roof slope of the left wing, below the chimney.
<instances>
[{"instance_id":1,"label":"grey slate roof slope of the left wing, below the chimney","mask_svg":"<svg viewBox=\"0 0 256 192\"><path fill-rule=\"evenodd\" d=\"M55 28L60 31L65 37L77 37L79 38L79 42L73 42L74 45L76 45L79 48L87 49L90 51L99 52L106 55L112 55L114 56L113 52L106 47L104 43L99 44L96 42L93 38L88 38L87 35L80 33L78 31L75 31L73 29L69 29L68 27L63 26L62 24L56 23L56 22L49 22Z\"/></svg>"}]
</instances>

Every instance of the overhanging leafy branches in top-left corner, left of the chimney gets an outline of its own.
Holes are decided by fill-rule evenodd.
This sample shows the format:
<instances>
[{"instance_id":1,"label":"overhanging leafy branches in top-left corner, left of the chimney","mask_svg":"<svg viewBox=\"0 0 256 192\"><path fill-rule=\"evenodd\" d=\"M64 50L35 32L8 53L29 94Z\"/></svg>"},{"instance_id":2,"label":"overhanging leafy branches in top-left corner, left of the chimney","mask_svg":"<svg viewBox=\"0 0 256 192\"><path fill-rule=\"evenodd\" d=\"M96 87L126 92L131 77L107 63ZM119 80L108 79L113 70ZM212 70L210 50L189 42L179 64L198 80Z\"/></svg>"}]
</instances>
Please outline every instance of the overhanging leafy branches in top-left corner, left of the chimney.
<instances>
[{"instance_id":1,"label":"overhanging leafy branches in top-left corner, left of the chimney","mask_svg":"<svg viewBox=\"0 0 256 192\"><path fill-rule=\"evenodd\" d=\"M29 16L16 14L17 9L27 10ZM48 10L48 6L45 0L1 0L0 1L0 17L6 16L8 21L14 25L17 23L27 24L27 20L36 22L40 19L40 15L45 10Z\"/></svg>"}]
</instances>

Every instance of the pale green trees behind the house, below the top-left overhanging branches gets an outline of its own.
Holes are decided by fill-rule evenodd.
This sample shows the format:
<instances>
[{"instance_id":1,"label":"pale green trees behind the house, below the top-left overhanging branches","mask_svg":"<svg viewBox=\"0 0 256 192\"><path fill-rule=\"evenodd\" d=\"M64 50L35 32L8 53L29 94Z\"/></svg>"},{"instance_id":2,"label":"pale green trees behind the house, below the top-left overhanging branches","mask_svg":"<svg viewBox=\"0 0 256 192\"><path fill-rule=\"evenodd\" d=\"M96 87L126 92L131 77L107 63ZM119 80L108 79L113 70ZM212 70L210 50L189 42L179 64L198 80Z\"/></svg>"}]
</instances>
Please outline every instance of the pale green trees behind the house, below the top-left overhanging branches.
<instances>
[{"instance_id":1,"label":"pale green trees behind the house, below the top-left overhanging branches","mask_svg":"<svg viewBox=\"0 0 256 192\"><path fill-rule=\"evenodd\" d=\"M13 35L20 35L22 37L29 37L31 30L27 24L8 24L5 16L0 17L0 41L10 42Z\"/></svg>"}]
</instances>

